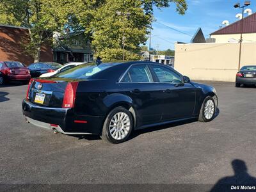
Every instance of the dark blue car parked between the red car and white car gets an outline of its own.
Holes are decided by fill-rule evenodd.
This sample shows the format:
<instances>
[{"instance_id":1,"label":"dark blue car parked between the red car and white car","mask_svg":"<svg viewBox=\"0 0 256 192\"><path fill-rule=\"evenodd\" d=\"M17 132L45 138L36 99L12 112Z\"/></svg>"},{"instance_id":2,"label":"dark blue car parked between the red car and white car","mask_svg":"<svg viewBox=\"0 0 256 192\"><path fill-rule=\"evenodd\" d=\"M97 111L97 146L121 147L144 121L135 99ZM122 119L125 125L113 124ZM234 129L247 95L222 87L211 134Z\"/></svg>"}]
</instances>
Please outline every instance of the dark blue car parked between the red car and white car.
<instances>
[{"instance_id":1,"label":"dark blue car parked between the red car and white car","mask_svg":"<svg viewBox=\"0 0 256 192\"><path fill-rule=\"evenodd\" d=\"M32 63L31 65L28 66L31 77L39 77L42 74L54 72L55 70L61 67L62 65L60 63L54 63L54 62Z\"/></svg>"}]
</instances>

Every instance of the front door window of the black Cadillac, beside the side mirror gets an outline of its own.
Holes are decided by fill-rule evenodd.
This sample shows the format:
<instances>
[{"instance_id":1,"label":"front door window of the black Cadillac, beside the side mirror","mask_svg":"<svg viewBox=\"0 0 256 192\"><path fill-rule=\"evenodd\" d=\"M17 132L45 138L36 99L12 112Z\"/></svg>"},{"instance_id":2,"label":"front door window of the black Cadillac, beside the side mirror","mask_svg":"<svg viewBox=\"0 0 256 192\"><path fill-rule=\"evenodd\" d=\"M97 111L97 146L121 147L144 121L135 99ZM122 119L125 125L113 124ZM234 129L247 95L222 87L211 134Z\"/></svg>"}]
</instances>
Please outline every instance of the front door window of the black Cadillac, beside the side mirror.
<instances>
[{"instance_id":1,"label":"front door window of the black Cadillac, beside the side mirror","mask_svg":"<svg viewBox=\"0 0 256 192\"><path fill-rule=\"evenodd\" d=\"M182 78L166 67L154 65L152 69L160 83L182 83Z\"/></svg>"}]
</instances>

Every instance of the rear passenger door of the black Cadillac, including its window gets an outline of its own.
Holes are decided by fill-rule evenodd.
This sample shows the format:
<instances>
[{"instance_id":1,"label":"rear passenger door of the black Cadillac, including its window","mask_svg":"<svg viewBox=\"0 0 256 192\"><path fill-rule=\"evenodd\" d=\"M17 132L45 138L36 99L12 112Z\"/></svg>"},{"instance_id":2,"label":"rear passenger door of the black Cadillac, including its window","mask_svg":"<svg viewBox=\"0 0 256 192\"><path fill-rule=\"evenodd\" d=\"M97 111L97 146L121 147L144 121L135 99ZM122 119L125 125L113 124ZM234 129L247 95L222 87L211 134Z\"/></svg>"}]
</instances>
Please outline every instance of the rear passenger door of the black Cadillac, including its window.
<instances>
[{"instance_id":1,"label":"rear passenger door of the black Cadillac, including its window","mask_svg":"<svg viewBox=\"0 0 256 192\"><path fill-rule=\"evenodd\" d=\"M134 64L122 77L119 86L132 99L136 110L137 127L161 120L161 98L147 65Z\"/></svg>"}]
</instances>

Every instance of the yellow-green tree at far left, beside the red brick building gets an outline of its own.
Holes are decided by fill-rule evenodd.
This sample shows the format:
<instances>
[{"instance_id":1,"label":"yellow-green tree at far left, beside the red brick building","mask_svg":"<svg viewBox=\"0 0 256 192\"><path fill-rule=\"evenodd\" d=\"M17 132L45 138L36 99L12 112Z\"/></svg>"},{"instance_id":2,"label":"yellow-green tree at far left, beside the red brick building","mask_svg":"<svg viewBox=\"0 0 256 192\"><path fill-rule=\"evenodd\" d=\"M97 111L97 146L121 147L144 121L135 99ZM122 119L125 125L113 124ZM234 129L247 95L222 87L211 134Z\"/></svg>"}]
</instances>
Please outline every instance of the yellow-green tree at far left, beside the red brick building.
<instances>
[{"instance_id":1,"label":"yellow-green tree at far left, beside the red brick building","mask_svg":"<svg viewBox=\"0 0 256 192\"><path fill-rule=\"evenodd\" d=\"M52 32L65 29L73 5L72 0L0 0L0 22L29 28L30 41L24 48L38 61L42 45L52 40Z\"/></svg>"}]
</instances>

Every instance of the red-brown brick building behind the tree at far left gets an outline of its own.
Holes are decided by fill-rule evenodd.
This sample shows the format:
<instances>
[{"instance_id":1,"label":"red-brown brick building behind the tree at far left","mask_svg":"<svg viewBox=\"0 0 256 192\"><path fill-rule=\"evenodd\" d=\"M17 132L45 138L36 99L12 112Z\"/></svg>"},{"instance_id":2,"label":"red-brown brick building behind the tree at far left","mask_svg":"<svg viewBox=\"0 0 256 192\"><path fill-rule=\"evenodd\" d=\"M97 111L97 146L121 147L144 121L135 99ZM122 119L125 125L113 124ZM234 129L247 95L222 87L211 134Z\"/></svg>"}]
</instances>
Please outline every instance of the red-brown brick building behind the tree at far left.
<instances>
[{"instance_id":1,"label":"red-brown brick building behind the tree at far left","mask_svg":"<svg viewBox=\"0 0 256 192\"><path fill-rule=\"evenodd\" d=\"M0 61L20 61L25 65L33 63L33 57L22 48L26 40L29 42L28 28L0 25ZM42 46L40 61L53 61L51 46Z\"/></svg>"}]
</instances>

